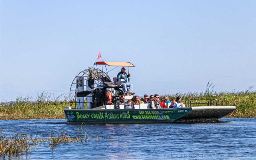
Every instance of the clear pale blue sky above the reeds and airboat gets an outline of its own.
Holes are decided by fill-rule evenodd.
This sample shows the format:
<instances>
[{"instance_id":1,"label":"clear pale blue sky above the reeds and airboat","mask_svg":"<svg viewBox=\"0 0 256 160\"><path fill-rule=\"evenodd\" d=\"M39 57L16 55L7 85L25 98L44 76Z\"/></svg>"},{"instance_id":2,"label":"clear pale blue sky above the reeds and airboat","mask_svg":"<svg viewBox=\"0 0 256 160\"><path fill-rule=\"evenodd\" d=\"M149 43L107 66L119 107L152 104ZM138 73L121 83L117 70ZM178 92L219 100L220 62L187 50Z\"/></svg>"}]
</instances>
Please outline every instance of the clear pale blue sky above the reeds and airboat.
<instances>
[{"instance_id":1,"label":"clear pale blue sky above the reeds and airboat","mask_svg":"<svg viewBox=\"0 0 256 160\"><path fill-rule=\"evenodd\" d=\"M254 0L0 3L0 101L68 94L99 51L102 61L136 66L140 96L200 92L208 81L217 91L256 86Z\"/></svg>"}]
</instances>

